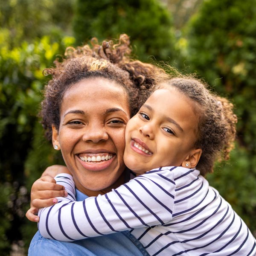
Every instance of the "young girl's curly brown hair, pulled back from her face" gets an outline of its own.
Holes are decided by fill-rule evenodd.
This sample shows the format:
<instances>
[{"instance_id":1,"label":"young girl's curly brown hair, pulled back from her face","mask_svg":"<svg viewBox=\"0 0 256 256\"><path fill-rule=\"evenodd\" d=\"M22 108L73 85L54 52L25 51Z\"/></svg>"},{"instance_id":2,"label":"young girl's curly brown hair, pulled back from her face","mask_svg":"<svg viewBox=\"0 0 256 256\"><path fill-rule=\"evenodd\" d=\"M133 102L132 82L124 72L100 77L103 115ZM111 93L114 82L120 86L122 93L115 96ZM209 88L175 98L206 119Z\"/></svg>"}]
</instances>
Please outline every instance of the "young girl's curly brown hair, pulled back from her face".
<instances>
[{"instance_id":1,"label":"young girl's curly brown hair, pulled back from her face","mask_svg":"<svg viewBox=\"0 0 256 256\"><path fill-rule=\"evenodd\" d=\"M173 78L160 85L166 86L174 87L195 103L192 109L199 116L195 148L202 149L196 167L203 176L213 172L215 161L229 159L234 147L237 116L233 113L233 104L213 94L207 84L192 76Z\"/></svg>"}]
</instances>

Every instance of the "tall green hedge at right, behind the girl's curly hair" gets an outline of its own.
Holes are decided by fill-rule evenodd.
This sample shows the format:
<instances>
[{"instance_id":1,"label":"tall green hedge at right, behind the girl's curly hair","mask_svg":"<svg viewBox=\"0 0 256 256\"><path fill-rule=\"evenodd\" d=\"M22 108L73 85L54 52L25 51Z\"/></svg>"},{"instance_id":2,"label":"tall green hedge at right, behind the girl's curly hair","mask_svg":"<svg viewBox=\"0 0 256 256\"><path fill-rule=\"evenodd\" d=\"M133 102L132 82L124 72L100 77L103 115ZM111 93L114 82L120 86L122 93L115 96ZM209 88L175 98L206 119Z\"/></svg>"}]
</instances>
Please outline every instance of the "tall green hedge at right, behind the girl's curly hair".
<instances>
[{"instance_id":1,"label":"tall green hedge at right, behind the girl's curly hair","mask_svg":"<svg viewBox=\"0 0 256 256\"><path fill-rule=\"evenodd\" d=\"M192 18L186 59L192 72L229 97L239 116L237 146L227 165L208 175L256 235L255 0L207 0Z\"/></svg>"}]
</instances>

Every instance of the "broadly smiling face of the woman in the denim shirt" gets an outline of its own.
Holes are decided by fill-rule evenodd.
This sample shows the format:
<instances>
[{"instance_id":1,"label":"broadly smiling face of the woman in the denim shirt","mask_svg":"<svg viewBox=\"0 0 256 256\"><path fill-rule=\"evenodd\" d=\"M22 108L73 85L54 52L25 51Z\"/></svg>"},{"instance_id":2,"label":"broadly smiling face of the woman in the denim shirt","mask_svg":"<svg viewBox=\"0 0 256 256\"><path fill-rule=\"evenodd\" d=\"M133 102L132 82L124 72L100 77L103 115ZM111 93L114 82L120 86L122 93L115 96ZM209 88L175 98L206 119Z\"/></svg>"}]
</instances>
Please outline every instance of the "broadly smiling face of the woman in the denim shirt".
<instances>
[{"instance_id":1,"label":"broadly smiling face of the woman in the denim shirt","mask_svg":"<svg viewBox=\"0 0 256 256\"><path fill-rule=\"evenodd\" d=\"M129 119L127 93L114 81L83 79L64 94L60 127L59 131L53 127L52 142L61 148L81 192L104 193L121 179Z\"/></svg>"}]
</instances>

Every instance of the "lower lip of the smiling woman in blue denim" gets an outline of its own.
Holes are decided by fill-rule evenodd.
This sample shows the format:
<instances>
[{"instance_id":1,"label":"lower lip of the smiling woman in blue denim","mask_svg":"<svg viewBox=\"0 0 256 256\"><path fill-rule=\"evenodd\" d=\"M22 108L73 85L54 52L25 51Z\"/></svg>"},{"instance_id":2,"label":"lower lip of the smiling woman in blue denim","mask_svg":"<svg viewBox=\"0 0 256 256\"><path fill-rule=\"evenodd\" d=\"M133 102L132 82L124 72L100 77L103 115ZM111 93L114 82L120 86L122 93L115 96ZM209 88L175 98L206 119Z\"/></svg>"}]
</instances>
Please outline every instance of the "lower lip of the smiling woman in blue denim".
<instances>
[{"instance_id":1,"label":"lower lip of the smiling woman in blue denim","mask_svg":"<svg viewBox=\"0 0 256 256\"><path fill-rule=\"evenodd\" d=\"M111 163L113 163L113 161L116 159L116 155L108 154L108 159L101 160L101 161L97 161L96 156L90 157L89 160L87 157L87 161L85 161L84 157L81 157L78 155L76 155L76 158L78 159L81 166L84 167L84 169L87 169L89 171L102 171L104 169L107 169L111 165ZM98 160L99 160L99 157L98 157Z\"/></svg>"}]
</instances>

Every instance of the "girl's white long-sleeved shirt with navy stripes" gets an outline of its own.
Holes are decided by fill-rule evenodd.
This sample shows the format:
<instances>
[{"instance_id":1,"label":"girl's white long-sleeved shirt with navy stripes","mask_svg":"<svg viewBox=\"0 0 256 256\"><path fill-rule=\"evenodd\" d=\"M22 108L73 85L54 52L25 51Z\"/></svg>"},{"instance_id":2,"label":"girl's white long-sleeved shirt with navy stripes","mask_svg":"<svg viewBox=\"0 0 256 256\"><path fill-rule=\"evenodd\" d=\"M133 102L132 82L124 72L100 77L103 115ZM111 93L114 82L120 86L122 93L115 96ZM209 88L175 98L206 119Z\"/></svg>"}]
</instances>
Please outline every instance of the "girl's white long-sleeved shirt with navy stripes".
<instances>
[{"instance_id":1,"label":"girl's white long-sleeved shirt with navy stripes","mask_svg":"<svg viewBox=\"0 0 256 256\"><path fill-rule=\"evenodd\" d=\"M196 169L153 169L79 202L71 175L56 180L69 195L40 209L38 228L46 238L74 241L130 230L152 256L256 256L244 221Z\"/></svg>"}]
</instances>

